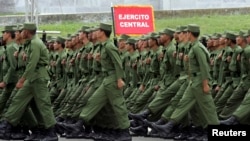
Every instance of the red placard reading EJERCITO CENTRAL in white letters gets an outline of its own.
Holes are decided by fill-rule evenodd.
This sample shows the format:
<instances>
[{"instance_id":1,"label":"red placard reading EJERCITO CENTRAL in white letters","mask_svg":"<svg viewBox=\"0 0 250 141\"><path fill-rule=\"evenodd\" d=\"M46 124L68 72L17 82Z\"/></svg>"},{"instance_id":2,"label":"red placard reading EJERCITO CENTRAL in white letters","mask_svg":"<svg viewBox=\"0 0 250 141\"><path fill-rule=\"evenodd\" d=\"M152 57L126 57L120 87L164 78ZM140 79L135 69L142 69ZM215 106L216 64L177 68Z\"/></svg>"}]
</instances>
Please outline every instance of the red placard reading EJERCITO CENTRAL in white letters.
<instances>
[{"instance_id":1,"label":"red placard reading EJERCITO CENTRAL in white letters","mask_svg":"<svg viewBox=\"0 0 250 141\"><path fill-rule=\"evenodd\" d=\"M115 34L142 35L154 32L152 6L116 5L113 7Z\"/></svg>"}]
</instances>

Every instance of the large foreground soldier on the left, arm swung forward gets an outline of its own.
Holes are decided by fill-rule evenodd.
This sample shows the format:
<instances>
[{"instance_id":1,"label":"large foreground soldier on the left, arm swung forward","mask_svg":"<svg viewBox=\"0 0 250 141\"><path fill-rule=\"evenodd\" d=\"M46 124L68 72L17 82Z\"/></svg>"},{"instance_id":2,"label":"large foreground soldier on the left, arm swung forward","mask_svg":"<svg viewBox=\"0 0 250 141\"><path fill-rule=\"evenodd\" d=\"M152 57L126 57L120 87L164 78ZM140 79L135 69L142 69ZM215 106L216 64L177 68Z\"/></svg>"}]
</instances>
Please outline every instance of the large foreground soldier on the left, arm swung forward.
<instances>
[{"instance_id":1,"label":"large foreground soldier on the left, arm swung forward","mask_svg":"<svg viewBox=\"0 0 250 141\"><path fill-rule=\"evenodd\" d=\"M44 123L43 135L34 136L34 140L57 141L58 137L53 130L56 123L48 92L47 82L49 80L46 65L48 65L48 50L41 39L36 36L36 25L24 23L22 35L29 41L27 45L27 66L16 84L18 92L13 97L4 120L1 123L1 131L7 135L13 126L17 126L27 108L34 99ZM35 133L34 133L35 134Z\"/></svg>"}]
</instances>

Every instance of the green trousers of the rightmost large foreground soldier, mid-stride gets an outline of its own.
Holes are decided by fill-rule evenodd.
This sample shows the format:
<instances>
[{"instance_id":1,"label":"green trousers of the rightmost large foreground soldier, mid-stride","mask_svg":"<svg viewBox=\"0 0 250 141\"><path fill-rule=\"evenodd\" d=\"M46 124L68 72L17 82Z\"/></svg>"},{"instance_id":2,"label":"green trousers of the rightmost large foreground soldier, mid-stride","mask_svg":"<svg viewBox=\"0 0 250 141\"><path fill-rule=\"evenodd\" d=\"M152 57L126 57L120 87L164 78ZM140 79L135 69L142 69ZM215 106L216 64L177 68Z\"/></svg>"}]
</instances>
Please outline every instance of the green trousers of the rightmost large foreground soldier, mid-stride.
<instances>
[{"instance_id":1,"label":"green trousers of the rightmost large foreground soldier, mid-stride","mask_svg":"<svg viewBox=\"0 0 250 141\"><path fill-rule=\"evenodd\" d=\"M204 122L208 125L219 124L212 95L211 93L206 94L203 92L202 82L199 76L190 80L188 87L171 115L170 120L180 123L180 121L196 105L200 107L196 110L198 110L198 113L202 114L202 117L205 118Z\"/></svg>"}]
</instances>

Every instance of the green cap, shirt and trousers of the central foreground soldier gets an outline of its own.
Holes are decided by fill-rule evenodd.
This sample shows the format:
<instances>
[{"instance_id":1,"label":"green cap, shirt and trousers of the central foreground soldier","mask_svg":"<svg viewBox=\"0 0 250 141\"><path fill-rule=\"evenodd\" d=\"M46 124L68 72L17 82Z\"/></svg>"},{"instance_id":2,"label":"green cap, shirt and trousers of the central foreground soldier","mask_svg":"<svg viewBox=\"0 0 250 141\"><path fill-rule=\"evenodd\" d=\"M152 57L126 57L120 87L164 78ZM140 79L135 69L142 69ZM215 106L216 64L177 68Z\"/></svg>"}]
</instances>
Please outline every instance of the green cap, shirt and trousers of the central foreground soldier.
<instances>
[{"instance_id":1,"label":"green cap, shirt and trousers of the central foreground soldier","mask_svg":"<svg viewBox=\"0 0 250 141\"><path fill-rule=\"evenodd\" d=\"M106 24L100 24L100 28L111 31L111 27ZM100 87L83 107L80 118L84 122L89 122L101 108L110 103L118 121L117 128L128 129L129 120L125 100L122 96L122 90L117 88L117 80L124 77L121 58L111 40L108 39L101 44L101 65L106 76Z\"/></svg>"}]
</instances>

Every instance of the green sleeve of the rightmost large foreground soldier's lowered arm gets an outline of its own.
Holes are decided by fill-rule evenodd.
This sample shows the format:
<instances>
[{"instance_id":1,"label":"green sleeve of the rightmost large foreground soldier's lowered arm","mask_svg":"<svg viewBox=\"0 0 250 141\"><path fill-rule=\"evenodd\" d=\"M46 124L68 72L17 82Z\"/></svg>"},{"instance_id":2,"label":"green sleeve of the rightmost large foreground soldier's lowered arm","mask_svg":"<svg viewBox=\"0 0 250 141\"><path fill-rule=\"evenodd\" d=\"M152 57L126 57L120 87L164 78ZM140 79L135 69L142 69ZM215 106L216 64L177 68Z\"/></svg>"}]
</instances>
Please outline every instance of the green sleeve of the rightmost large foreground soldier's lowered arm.
<instances>
[{"instance_id":1,"label":"green sleeve of the rightmost large foreground soldier's lowered arm","mask_svg":"<svg viewBox=\"0 0 250 141\"><path fill-rule=\"evenodd\" d=\"M202 80L210 80L210 68L205 51L201 47L194 47L193 51L199 63Z\"/></svg>"}]
</instances>

